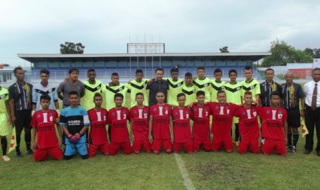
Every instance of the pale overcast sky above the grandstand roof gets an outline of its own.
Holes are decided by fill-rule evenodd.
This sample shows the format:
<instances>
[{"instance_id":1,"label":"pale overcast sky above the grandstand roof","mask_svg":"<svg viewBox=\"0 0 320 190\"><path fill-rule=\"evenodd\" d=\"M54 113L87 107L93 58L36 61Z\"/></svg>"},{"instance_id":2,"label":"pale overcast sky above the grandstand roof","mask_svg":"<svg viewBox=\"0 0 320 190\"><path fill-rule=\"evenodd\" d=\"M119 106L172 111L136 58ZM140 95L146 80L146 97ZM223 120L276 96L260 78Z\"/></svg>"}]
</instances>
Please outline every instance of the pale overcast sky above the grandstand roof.
<instances>
[{"instance_id":1,"label":"pale overcast sky above the grandstand roof","mask_svg":"<svg viewBox=\"0 0 320 190\"><path fill-rule=\"evenodd\" d=\"M87 54L125 53L137 36L166 52L268 52L276 39L319 48L319 10L319 0L0 0L0 63L23 66L18 53L58 54L65 41Z\"/></svg>"}]
</instances>

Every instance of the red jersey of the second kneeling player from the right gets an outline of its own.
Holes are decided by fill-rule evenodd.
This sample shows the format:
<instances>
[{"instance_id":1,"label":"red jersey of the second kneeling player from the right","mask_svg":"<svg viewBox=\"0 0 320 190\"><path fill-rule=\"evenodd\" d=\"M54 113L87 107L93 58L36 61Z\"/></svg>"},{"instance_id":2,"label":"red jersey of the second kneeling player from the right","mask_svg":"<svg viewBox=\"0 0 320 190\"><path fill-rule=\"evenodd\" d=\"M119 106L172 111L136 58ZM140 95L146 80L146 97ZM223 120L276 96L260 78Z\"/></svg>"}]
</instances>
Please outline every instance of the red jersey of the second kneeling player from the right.
<instances>
[{"instance_id":1,"label":"red jersey of the second kneeling player from the right","mask_svg":"<svg viewBox=\"0 0 320 190\"><path fill-rule=\"evenodd\" d=\"M241 139L244 141L259 138L259 123L257 115L262 108L256 105L252 105L249 109L246 109L244 105L238 107L235 112L235 116L239 117L239 132Z\"/></svg>"}]
</instances>

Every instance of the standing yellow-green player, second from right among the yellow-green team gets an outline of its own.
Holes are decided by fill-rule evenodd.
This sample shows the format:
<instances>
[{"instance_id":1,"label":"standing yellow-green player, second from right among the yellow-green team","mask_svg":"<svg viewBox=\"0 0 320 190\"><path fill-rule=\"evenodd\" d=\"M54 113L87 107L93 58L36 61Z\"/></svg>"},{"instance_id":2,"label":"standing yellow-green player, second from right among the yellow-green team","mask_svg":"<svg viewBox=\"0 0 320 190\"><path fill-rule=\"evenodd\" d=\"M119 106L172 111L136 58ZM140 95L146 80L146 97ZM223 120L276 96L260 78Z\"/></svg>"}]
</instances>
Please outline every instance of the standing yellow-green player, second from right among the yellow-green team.
<instances>
[{"instance_id":1,"label":"standing yellow-green player, second from right among the yellow-green team","mask_svg":"<svg viewBox=\"0 0 320 190\"><path fill-rule=\"evenodd\" d=\"M224 84L226 101L236 105L242 105L242 83L237 82L237 71L229 70L230 81ZM233 117L235 124L235 144L239 142L239 118Z\"/></svg>"}]
</instances>

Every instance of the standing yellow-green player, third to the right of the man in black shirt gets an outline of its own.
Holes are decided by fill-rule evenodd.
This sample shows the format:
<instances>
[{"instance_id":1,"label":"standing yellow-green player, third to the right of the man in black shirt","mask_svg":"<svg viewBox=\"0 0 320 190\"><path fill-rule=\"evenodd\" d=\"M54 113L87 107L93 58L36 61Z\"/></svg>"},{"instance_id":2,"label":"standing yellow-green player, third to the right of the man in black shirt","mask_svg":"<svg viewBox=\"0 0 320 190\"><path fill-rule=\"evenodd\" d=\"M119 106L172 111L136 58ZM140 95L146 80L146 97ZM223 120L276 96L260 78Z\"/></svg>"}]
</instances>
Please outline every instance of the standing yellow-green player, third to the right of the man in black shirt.
<instances>
[{"instance_id":1,"label":"standing yellow-green player, third to the right of the man in black shirt","mask_svg":"<svg viewBox=\"0 0 320 190\"><path fill-rule=\"evenodd\" d=\"M211 80L210 78L204 76L206 73L206 70L204 67L198 67L198 77L193 79L193 85L195 85L195 90L198 91L203 91L205 94L205 102L210 102L211 101Z\"/></svg>"}]
</instances>

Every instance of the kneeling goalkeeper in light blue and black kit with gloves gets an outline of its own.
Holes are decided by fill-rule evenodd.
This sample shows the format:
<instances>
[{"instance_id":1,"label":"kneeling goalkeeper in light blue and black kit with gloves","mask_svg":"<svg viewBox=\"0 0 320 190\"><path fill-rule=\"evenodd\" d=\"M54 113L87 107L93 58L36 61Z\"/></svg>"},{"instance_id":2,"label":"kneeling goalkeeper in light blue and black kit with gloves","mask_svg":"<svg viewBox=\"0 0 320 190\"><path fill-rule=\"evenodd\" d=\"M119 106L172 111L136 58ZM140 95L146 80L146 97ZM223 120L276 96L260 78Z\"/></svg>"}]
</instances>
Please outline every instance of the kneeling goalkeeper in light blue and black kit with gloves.
<instances>
[{"instance_id":1,"label":"kneeling goalkeeper in light blue and black kit with gloves","mask_svg":"<svg viewBox=\"0 0 320 190\"><path fill-rule=\"evenodd\" d=\"M71 91L70 106L61 111L59 124L65 133L65 160L70 160L76 152L81 155L81 158L88 158L86 131L90 123L87 111L78 105L78 98L78 92Z\"/></svg>"}]
</instances>

